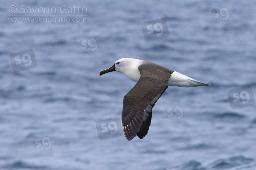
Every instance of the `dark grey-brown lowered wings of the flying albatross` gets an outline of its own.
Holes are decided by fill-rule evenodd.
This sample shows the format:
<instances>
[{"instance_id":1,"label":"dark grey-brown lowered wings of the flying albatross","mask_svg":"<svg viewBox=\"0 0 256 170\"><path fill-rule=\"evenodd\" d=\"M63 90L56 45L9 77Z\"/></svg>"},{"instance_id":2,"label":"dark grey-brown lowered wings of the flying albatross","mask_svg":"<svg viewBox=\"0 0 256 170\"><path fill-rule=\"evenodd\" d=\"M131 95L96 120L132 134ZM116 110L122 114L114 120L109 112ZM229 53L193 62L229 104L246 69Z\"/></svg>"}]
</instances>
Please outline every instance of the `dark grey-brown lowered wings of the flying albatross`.
<instances>
[{"instance_id":1,"label":"dark grey-brown lowered wings of the flying albatross","mask_svg":"<svg viewBox=\"0 0 256 170\"><path fill-rule=\"evenodd\" d=\"M137 84L125 95L123 101L122 122L127 140L132 140L140 132L141 127L142 130L139 135L142 138L146 135L152 117L152 108L151 116L148 116L150 118L142 124L144 111L147 107L150 107L152 102L154 106L167 88L166 85L173 73L172 70L150 62L145 62L138 69L141 77Z\"/></svg>"}]
</instances>

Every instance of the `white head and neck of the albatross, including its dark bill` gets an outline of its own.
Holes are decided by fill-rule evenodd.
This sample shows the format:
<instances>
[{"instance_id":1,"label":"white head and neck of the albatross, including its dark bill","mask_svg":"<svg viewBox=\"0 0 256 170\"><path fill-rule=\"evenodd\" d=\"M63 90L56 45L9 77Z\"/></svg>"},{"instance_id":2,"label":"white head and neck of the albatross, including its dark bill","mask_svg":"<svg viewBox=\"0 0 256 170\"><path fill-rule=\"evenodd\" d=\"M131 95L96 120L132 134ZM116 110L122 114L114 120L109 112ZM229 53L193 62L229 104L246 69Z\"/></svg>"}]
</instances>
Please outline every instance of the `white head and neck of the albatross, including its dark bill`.
<instances>
[{"instance_id":1,"label":"white head and neck of the albatross, including its dark bill","mask_svg":"<svg viewBox=\"0 0 256 170\"><path fill-rule=\"evenodd\" d=\"M140 71L138 70L138 67L142 64L142 62L143 60L134 58L121 58L117 60L110 68L100 71L99 75L112 71L118 71L125 74L129 79L138 82L140 78Z\"/></svg>"}]
</instances>

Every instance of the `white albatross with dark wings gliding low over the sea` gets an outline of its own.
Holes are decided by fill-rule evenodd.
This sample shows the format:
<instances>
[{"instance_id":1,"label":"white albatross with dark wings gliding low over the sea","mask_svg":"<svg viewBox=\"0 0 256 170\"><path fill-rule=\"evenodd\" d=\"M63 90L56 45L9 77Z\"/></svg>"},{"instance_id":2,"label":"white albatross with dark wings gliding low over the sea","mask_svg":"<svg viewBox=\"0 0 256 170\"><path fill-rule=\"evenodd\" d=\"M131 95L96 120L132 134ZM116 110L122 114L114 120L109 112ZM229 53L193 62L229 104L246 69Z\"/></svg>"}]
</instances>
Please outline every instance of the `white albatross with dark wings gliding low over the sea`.
<instances>
[{"instance_id":1,"label":"white albatross with dark wings gliding low over the sea","mask_svg":"<svg viewBox=\"0 0 256 170\"><path fill-rule=\"evenodd\" d=\"M146 136L151 123L152 108L168 86L211 85L158 64L134 58L121 58L110 68L100 71L99 75L112 71L121 72L137 82L125 95L123 101L122 122L127 140L132 140L136 135L140 139Z\"/></svg>"}]
</instances>

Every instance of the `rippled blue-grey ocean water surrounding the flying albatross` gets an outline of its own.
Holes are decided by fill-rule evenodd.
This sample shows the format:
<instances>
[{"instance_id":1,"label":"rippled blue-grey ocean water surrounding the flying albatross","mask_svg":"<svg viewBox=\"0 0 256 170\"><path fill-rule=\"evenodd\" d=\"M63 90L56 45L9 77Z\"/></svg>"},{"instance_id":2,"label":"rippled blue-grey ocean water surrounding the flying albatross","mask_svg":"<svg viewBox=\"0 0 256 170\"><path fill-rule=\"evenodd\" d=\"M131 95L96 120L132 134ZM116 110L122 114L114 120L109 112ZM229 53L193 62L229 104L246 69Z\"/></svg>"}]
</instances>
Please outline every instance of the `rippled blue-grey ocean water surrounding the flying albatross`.
<instances>
[{"instance_id":1,"label":"rippled blue-grey ocean water surrounding the flying albatross","mask_svg":"<svg viewBox=\"0 0 256 170\"><path fill-rule=\"evenodd\" d=\"M256 170L255 11L253 0L1 1L0 169ZM62 15L79 19L53 22ZM153 24L146 41L142 24L162 18L166 37ZM25 50L36 64L18 68ZM213 86L170 86L144 139L101 140L96 123L121 119L136 82L99 71L127 57Z\"/></svg>"}]
</instances>

